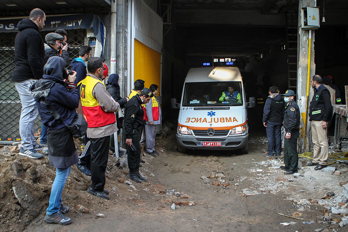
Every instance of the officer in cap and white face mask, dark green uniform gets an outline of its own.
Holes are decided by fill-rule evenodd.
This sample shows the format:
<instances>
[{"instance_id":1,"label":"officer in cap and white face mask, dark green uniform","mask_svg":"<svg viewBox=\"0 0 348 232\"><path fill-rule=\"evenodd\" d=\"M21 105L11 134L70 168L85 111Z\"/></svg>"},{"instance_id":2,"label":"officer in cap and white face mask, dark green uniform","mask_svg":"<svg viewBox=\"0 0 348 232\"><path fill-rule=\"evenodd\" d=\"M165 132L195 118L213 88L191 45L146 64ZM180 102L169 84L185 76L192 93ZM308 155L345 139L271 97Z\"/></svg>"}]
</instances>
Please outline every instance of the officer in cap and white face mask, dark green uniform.
<instances>
[{"instance_id":1,"label":"officer in cap and white face mask, dark green uniform","mask_svg":"<svg viewBox=\"0 0 348 232\"><path fill-rule=\"evenodd\" d=\"M286 103L286 110L284 114L284 163L285 166L280 166L281 169L286 170L284 174L293 174L297 172L299 157L297 153L297 139L299 137L300 126L300 110L295 101L295 93L293 90L286 90L284 102Z\"/></svg>"}]
</instances>

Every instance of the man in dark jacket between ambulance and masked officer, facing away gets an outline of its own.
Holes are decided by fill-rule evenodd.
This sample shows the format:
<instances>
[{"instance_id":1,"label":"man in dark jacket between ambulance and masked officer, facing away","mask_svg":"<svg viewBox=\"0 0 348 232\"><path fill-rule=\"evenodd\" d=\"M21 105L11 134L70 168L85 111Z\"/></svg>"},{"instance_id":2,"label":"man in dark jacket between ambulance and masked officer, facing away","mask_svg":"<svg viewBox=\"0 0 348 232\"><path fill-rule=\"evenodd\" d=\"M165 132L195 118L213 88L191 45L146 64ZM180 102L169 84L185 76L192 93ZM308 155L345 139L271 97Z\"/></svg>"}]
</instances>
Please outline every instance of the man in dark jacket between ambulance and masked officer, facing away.
<instances>
[{"instance_id":1,"label":"man in dark jacket between ambulance and masked officer, facing away","mask_svg":"<svg viewBox=\"0 0 348 232\"><path fill-rule=\"evenodd\" d=\"M263 156L272 157L273 151L275 156L280 156L282 152L282 122L284 118L284 99L279 94L279 90L275 86L271 86L268 90L269 96L263 107L263 126L266 127L268 139L267 153Z\"/></svg>"}]
</instances>

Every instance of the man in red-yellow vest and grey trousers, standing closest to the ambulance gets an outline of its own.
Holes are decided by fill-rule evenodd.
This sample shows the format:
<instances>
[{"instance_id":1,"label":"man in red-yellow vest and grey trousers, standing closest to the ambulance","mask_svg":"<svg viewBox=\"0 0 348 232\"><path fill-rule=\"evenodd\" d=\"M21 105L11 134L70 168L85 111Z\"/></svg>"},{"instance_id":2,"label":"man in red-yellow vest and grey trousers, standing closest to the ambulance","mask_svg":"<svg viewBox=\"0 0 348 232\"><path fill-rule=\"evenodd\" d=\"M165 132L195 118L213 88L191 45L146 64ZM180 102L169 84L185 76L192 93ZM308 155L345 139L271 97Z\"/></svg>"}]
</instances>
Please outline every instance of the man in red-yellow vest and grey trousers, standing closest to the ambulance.
<instances>
[{"instance_id":1,"label":"man in red-yellow vest and grey trousers, standing closest to the ambulance","mask_svg":"<svg viewBox=\"0 0 348 232\"><path fill-rule=\"evenodd\" d=\"M150 90L153 97L149 103L145 104L145 136L146 136L146 153L157 157L158 152L155 150L156 126L162 123L162 111L156 98L158 85L152 84Z\"/></svg>"}]
</instances>

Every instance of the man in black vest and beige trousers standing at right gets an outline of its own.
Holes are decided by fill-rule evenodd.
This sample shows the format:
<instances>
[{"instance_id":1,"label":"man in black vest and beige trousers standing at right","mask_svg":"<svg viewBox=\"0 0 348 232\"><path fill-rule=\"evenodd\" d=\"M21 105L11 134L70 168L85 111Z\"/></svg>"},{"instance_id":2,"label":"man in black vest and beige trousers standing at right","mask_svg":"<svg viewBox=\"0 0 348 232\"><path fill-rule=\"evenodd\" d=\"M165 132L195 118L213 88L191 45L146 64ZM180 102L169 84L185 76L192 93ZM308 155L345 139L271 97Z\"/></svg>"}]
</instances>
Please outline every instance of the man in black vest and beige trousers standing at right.
<instances>
[{"instance_id":1,"label":"man in black vest and beige trousers standing at right","mask_svg":"<svg viewBox=\"0 0 348 232\"><path fill-rule=\"evenodd\" d=\"M316 166L314 170L327 167L329 143L327 142L327 122L331 117L330 92L323 85L322 77L314 75L310 79L314 95L309 105L309 121L311 121L312 141L314 144L313 161L307 166Z\"/></svg>"}]
</instances>

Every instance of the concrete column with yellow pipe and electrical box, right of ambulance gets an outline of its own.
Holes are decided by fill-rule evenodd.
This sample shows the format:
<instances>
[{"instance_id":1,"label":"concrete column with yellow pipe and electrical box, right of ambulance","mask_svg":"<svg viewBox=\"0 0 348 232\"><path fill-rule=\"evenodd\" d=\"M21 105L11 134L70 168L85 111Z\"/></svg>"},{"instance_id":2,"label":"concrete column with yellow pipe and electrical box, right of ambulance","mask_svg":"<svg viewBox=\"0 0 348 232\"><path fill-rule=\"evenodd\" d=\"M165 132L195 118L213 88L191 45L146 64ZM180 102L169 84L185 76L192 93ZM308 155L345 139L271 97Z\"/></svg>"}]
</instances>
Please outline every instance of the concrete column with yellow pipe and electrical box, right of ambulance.
<instances>
[{"instance_id":1,"label":"concrete column with yellow pipe and electrical box, right of ambulance","mask_svg":"<svg viewBox=\"0 0 348 232\"><path fill-rule=\"evenodd\" d=\"M309 77L315 74L314 63L314 30L302 30L301 25L301 8L315 7L316 0L302 0L299 3L299 37L298 37L298 78L297 78L297 99L301 112L300 120L300 136L298 140L299 153L310 151L310 123L309 123L309 103L313 97L313 89L307 79L308 76L308 61L310 61ZM309 33L311 33L310 43L310 59L309 54ZM309 94L307 95L307 86L309 86Z\"/></svg>"}]
</instances>

